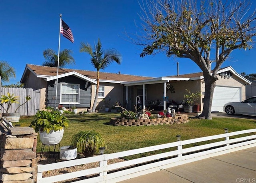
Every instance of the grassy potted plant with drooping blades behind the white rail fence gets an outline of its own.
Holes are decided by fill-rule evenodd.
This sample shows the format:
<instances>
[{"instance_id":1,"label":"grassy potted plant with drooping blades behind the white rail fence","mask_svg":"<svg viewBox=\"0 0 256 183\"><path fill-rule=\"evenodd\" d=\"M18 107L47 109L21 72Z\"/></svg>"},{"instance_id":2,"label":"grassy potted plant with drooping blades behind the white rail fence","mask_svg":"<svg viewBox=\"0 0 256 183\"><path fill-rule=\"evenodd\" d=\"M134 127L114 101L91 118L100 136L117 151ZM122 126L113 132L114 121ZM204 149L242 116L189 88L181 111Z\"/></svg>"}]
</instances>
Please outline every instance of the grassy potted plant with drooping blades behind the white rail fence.
<instances>
[{"instance_id":1,"label":"grassy potted plant with drooping blades behind the white rail fence","mask_svg":"<svg viewBox=\"0 0 256 183\"><path fill-rule=\"evenodd\" d=\"M80 131L72 136L71 145L77 147L85 157L93 156L100 147L105 147L105 141L96 131Z\"/></svg>"}]
</instances>

